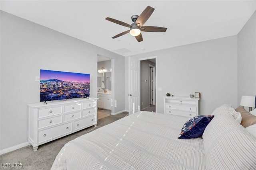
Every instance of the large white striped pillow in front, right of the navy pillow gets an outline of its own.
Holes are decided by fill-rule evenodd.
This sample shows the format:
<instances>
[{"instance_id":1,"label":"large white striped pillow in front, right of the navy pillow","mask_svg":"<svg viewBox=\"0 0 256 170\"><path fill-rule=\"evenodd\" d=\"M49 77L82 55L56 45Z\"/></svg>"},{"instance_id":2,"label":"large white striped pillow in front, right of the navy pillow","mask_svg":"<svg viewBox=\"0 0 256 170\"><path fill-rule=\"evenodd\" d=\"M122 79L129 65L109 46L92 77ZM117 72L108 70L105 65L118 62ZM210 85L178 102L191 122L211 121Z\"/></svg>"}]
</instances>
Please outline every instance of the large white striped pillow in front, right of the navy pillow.
<instances>
[{"instance_id":1,"label":"large white striped pillow in front, right of the navy pillow","mask_svg":"<svg viewBox=\"0 0 256 170\"><path fill-rule=\"evenodd\" d=\"M256 169L256 138L231 114L214 115L202 137L206 169Z\"/></svg>"}]
</instances>

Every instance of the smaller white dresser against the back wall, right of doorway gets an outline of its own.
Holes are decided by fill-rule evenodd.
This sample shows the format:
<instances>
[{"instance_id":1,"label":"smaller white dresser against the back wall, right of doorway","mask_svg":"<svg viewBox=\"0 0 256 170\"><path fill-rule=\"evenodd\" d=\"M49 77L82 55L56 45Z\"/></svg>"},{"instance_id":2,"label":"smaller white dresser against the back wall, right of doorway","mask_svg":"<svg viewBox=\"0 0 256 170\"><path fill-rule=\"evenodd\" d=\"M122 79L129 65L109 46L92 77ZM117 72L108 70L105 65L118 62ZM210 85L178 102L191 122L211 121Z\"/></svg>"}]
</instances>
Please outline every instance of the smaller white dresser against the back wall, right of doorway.
<instances>
[{"instance_id":1,"label":"smaller white dresser against the back wall, right of doorway","mask_svg":"<svg viewBox=\"0 0 256 170\"><path fill-rule=\"evenodd\" d=\"M183 96L164 97L164 113L195 117L198 113L199 98Z\"/></svg>"}]
</instances>

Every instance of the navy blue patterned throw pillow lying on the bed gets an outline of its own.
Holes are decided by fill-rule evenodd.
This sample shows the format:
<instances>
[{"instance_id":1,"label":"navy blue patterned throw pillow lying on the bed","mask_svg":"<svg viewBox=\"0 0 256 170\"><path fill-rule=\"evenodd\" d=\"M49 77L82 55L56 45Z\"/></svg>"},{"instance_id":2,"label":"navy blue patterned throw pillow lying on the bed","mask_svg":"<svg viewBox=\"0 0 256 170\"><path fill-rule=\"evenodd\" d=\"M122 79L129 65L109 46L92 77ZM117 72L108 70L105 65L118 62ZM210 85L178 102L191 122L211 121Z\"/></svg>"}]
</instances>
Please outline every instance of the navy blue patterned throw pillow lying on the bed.
<instances>
[{"instance_id":1,"label":"navy blue patterned throw pillow lying on the bed","mask_svg":"<svg viewBox=\"0 0 256 170\"><path fill-rule=\"evenodd\" d=\"M188 120L182 127L178 139L200 137L214 115L199 115Z\"/></svg>"}]
</instances>

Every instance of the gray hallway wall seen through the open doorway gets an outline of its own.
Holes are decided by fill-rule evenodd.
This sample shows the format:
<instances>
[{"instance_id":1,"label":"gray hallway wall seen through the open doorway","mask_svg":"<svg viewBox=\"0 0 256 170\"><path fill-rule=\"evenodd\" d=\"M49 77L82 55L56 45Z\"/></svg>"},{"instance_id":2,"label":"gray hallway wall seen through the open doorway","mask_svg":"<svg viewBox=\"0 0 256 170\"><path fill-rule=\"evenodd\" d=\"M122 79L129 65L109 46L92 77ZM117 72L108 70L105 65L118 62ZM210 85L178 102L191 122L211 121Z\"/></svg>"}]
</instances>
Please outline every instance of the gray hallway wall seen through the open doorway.
<instances>
[{"instance_id":1,"label":"gray hallway wall seen through the open doorway","mask_svg":"<svg viewBox=\"0 0 256 170\"><path fill-rule=\"evenodd\" d=\"M140 108L144 109L149 106L149 65L156 66L149 60L140 61ZM145 82L147 80L147 82ZM143 104L142 104L143 103Z\"/></svg>"}]
</instances>

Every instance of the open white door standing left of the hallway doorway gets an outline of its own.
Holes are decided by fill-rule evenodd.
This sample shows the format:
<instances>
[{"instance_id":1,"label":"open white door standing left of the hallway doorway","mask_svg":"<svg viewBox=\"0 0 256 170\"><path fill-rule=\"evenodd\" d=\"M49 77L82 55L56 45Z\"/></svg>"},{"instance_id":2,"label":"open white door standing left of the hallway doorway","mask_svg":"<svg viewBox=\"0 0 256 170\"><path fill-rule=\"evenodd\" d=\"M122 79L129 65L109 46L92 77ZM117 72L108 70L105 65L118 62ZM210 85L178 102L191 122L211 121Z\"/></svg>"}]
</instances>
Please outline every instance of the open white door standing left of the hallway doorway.
<instances>
[{"instance_id":1,"label":"open white door standing left of the hallway doorway","mask_svg":"<svg viewBox=\"0 0 256 170\"><path fill-rule=\"evenodd\" d=\"M129 57L129 115L140 111L140 60Z\"/></svg>"}]
</instances>

